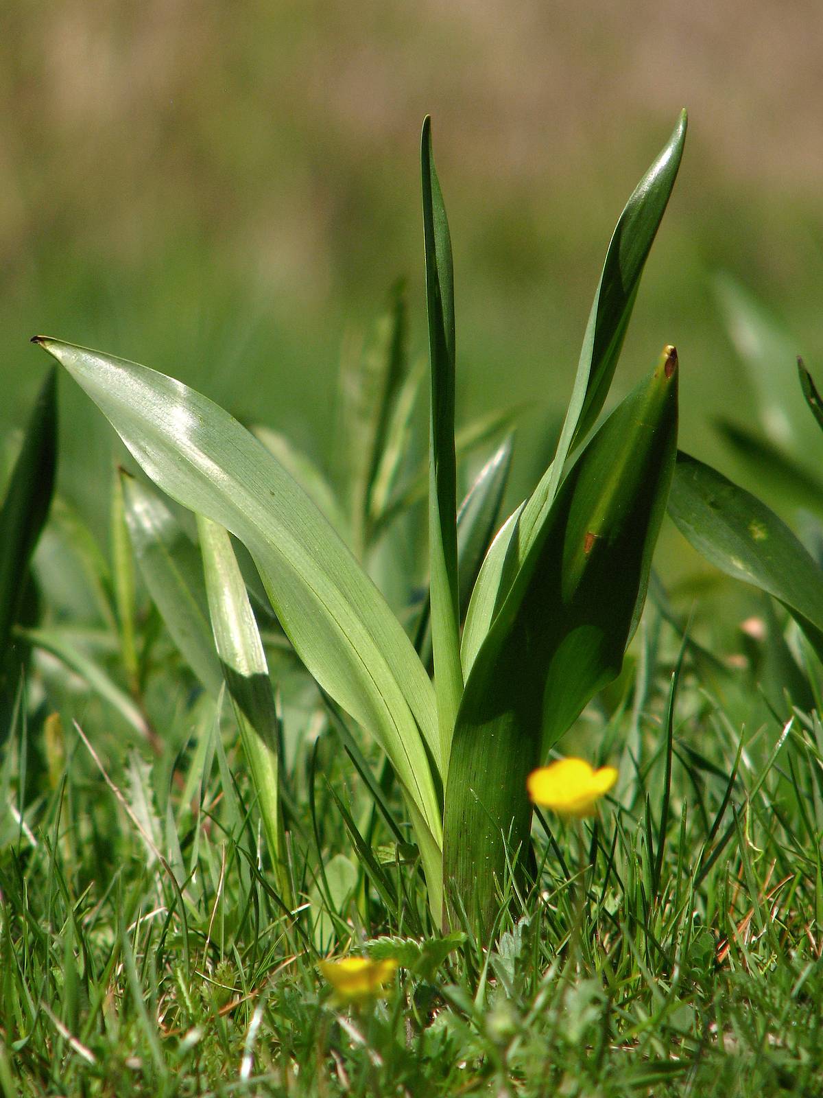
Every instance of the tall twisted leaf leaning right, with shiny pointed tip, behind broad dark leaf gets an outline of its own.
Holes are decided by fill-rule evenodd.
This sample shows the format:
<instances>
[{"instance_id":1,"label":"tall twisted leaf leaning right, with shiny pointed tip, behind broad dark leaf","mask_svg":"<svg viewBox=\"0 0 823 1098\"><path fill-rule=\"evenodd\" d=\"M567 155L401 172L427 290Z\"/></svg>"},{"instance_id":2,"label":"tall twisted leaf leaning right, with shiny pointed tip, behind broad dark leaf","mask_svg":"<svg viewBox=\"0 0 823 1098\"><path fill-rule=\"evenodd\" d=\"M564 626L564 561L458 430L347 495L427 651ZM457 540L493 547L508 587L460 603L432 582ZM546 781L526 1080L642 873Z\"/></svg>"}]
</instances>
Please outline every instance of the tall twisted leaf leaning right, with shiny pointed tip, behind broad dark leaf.
<instances>
[{"instance_id":1,"label":"tall twisted leaf leaning right, with shiny pointed tip, behind broad dark leaf","mask_svg":"<svg viewBox=\"0 0 823 1098\"><path fill-rule=\"evenodd\" d=\"M572 399L554 460L543 473L508 536L498 537L475 584L477 605L463 635L465 673L503 605L517 570L551 508L566 459L602 411L629 327L640 279L666 211L686 141L686 112L659 156L641 179L612 234L583 339ZM471 624L471 628L469 625Z\"/></svg>"}]
</instances>

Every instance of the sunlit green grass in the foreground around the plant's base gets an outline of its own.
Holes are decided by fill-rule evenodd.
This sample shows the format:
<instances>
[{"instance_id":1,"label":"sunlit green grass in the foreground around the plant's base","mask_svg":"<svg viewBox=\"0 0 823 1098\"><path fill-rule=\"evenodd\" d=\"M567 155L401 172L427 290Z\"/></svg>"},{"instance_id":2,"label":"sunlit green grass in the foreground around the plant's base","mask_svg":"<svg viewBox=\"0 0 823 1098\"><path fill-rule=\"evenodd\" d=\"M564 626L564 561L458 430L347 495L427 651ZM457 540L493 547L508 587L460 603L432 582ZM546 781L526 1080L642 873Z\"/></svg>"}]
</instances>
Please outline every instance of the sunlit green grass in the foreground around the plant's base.
<instances>
[{"instance_id":1,"label":"sunlit green grass in the foreground around the plant's base","mask_svg":"<svg viewBox=\"0 0 823 1098\"><path fill-rule=\"evenodd\" d=\"M2 1093L819 1094L821 726L783 735L751 672L688 645L669 707L679 643L651 609L634 673L575 733L620 760L616 795L596 824L535 825L539 886L509 897L493 948L401 968L373 1009L335 1006L316 962L430 935L424 884L383 865L399 918L357 866L341 898L331 789L356 818L371 798L302 676L284 695L288 910L228 707L166 638L155 752L42 661L0 787Z\"/></svg>"}]
</instances>

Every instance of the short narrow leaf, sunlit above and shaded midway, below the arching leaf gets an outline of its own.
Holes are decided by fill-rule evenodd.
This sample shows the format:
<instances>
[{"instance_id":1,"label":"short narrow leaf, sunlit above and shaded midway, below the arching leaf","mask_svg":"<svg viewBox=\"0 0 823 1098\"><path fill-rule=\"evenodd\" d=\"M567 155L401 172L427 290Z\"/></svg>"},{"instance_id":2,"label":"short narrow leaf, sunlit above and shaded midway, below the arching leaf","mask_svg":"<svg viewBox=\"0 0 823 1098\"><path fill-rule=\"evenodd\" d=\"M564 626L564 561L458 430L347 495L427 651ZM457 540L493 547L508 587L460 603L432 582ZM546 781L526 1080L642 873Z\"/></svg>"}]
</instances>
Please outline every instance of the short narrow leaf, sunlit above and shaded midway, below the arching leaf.
<instances>
[{"instance_id":1,"label":"short narrow leaf, sunlit above and shaded midway, below the arching leaf","mask_svg":"<svg viewBox=\"0 0 823 1098\"><path fill-rule=\"evenodd\" d=\"M214 643L240 730L269 855L283 903L291 906L278 776L280 720L269 665L232 539L221 526L200 515L198 531Z\"/></svg>"}]
</instances>

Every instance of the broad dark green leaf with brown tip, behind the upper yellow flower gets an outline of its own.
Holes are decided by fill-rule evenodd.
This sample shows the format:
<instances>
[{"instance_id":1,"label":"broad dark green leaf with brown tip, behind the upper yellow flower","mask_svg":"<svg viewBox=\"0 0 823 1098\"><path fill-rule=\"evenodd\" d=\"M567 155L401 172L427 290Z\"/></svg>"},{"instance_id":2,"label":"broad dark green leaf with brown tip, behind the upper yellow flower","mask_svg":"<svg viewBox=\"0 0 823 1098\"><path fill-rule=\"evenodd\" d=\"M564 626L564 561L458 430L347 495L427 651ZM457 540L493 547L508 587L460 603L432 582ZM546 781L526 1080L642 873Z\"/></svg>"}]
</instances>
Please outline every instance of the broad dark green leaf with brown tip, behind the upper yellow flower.
<instances>
[{"instance_id":1,"label":"broad dark green leaf with brown tip, behind the upper yellow flower","mask_svg":"<svg viewBox=\"0 0 823 1098\"><path fill-rule=\"evenodd\" d=\"M615 679L636 626L674 467L674 348L566 477L466 682L446 796L443 864L484 932L506 847L522 852L526 777Z\"/></svg>"}]
</instances>

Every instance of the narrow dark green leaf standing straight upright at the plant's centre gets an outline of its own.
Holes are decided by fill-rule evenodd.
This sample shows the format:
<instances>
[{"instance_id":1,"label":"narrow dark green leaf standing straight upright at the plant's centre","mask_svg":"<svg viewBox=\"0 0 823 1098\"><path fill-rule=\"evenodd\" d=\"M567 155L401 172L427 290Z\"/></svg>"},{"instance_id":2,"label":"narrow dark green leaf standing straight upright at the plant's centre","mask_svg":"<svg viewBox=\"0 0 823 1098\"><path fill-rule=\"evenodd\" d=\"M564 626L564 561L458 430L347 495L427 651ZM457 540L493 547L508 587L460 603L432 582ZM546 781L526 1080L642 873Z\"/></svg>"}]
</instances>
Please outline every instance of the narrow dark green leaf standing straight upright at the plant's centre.
<instances>
[{"instance_id":1,"label":"narrow dark green leaf standing straight upright at the plant's centre","mask_svg":"<svg viewBox=\"0 0 823 1098\"><path fill-rule=\"evenodd\" d=\"M458 580L458 472L454 456L454 274L443 195L431 150L431 120L420 142L426 303L429 318L429 590L440 754L448 771L463 693Z\"/></svg>"}]
</instances>

